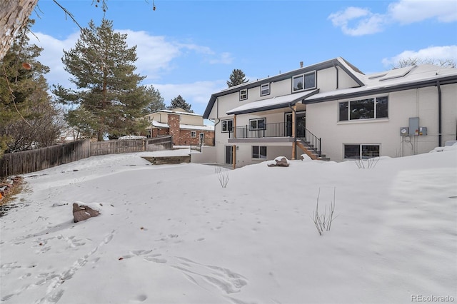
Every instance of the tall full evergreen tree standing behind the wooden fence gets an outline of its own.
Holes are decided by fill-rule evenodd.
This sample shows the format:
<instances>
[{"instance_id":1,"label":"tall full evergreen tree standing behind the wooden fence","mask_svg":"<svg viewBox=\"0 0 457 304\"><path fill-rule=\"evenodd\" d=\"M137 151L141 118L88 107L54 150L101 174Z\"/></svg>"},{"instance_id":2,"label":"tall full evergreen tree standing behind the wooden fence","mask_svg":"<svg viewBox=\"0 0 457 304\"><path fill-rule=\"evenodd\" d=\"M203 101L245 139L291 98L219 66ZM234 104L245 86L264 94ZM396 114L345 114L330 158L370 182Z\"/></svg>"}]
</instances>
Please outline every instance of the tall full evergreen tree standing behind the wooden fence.
<instances>
[{"instance_id":1,"label":"tall full evergreen tree standing behind the wooden fence","mask_svg":"<svg viewBox=\"0 0 457 304\"><path fill-rule=\"evenodd\" d=\"M79 131L91 131L99 141L106 133L117 138L145 127L138 118L150 101L149 89L139 85L145 76L134 73L136 46L129 48L126 38L113 31L112 21L102 19L100 26L90 21L62 58L76 89L58 85L53 90L60 103L79 106L67 115L70 126L84 126Z\"/></svg>"}]
</instances>

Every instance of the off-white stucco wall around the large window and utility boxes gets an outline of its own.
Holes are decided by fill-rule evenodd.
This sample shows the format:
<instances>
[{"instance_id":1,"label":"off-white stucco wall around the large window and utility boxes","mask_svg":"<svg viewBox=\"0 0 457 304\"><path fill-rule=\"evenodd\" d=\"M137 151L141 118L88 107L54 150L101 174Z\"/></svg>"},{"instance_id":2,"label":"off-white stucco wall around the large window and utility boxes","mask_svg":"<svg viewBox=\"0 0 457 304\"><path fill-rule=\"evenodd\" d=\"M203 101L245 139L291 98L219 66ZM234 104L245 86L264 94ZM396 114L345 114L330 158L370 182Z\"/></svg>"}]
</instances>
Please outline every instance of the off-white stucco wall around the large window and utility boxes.
<instances>
[{"instance_id":1,"label":"off-white stucco wall around the large window and utility boxes","mask_svg":"<svg viewBox=\"0 0 457 304\"><path fill-rule=\"evenodd\" d=\"M455 88L443 91L443 132L454 136L456 128ZM380 94L379 96L386 96ZM455 96L455 95L454 95ZM375 96L364 96L370 98ZM363 99L358 98L358 99ZM381 156L408 156L426 153L438 146L438 91L436 87L418 88L388 94L388 118L338 122L338 103L328 101L309 104L306 127L322 138L322 151L333 161L343 160L344 144L379 144ZM447 112L444 111L448 108ZM418 117L419 125L427 127L426 136L400 136L400 128L409 125L410 117ZM446 121L446 127L444 127ZM452 135L452 129L453 134Z\"/></svg>"}]
</instances>

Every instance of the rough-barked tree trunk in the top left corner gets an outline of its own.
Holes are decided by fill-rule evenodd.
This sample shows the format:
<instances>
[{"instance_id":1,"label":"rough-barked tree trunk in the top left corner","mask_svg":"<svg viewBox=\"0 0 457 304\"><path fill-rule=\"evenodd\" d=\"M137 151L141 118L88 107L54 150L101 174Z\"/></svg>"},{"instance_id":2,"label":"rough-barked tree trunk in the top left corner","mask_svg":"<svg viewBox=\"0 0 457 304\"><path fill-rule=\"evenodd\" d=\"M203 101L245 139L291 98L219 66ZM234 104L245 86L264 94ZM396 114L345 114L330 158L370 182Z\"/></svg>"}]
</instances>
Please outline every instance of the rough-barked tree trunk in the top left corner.
<instances>
[{"instance_id":1,"label":"rough-barked tree trunk in the top left corner","mask_svg":"<svg viewBox=\"0 0 457 304\"><path fill-rule=\"evenodd\" d=\"M0 0L0 60L18 31L27 24L38 0Z\"/></svg>"}]
</instances>

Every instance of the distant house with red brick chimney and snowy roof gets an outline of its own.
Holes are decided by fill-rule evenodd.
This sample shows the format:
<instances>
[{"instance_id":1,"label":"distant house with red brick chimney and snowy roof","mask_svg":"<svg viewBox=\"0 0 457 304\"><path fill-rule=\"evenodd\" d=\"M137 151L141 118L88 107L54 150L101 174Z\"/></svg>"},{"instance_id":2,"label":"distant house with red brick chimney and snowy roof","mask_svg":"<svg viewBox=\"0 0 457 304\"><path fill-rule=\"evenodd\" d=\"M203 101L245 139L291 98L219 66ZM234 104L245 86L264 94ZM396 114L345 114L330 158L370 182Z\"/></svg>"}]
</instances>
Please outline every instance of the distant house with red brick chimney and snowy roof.
<instances>
[{"instance_id":1,"label":"distant house with red brick chimney and snowy roof","mask_svg":"<svg viewBox=\"0 0 457 304\"><path fill-rule=\"evenodd\" d=\"M148 137L171 135L175 146L214 146L214 126L205 126L201 115L182 108L154 111L145 116L151 125Z\"/></svg>"}]
</instances>

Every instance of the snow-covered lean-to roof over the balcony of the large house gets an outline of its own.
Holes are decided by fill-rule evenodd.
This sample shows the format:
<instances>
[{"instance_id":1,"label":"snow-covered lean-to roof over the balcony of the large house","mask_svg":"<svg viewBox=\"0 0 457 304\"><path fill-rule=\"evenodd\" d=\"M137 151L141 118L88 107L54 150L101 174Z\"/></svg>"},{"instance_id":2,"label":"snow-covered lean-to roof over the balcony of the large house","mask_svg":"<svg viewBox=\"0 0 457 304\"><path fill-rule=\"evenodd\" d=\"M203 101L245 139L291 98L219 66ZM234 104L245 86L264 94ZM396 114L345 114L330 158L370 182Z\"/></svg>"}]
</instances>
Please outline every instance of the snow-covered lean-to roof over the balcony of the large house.
<instances>
[{"instance_id":1,"label":"snow-covered lean-to roof over the balcony of the large house","mask_svg":"<svg viewBox=\"0 0 457 304\"><path fill-rule=\"evenodd\" d=\"M305 99L308 96L318 93L318 89L311 91L294 93L284 96L276 96L273 98L261 99L259 101L253 101L251 103L243 104L227 111L227 114L246 114L257 111L273 110L275 108L284 108L285 106L292 106L298 101Z\"/></svg>"}]
</instances>

